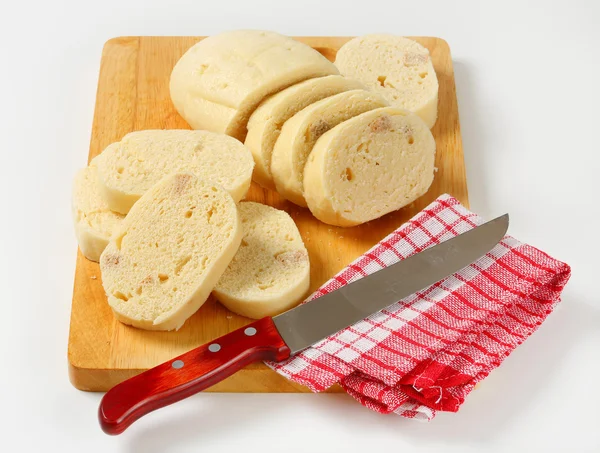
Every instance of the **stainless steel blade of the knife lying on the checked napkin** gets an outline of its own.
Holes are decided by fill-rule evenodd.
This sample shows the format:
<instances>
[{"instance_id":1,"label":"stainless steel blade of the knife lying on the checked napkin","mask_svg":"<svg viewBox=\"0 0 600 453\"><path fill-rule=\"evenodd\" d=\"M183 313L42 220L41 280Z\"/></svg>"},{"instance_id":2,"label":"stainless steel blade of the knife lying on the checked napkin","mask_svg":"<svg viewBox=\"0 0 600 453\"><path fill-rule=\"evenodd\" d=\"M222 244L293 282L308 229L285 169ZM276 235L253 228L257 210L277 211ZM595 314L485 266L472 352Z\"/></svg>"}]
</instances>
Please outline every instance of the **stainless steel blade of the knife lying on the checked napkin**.
<instances>
[{"instance_id":1,"label":"stainless steel blade of the knife lying on the checked napkin","mask_svg":"<svg viewBox=\"0 0 600 453\"><path fill-rule=\"evenodd\" d=\"M481 258L506 234L508 214L273 318L292 354Z\"/></svg>"}]
</instances>

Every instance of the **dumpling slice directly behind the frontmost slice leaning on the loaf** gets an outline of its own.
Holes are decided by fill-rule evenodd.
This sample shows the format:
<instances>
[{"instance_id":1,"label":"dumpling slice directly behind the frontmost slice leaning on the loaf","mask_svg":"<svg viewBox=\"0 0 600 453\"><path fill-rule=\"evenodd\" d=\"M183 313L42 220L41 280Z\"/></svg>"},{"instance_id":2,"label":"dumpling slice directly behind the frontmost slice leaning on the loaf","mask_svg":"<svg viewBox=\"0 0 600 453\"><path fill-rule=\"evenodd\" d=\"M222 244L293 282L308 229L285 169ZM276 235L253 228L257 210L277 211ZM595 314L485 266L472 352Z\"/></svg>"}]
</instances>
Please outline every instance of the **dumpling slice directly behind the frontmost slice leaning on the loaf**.
<instances>
[{"instance_id":1,"label":"dumpling slice directly behind the frontmost slice leaning on the loaf","mask_svg":"<svg viewBox=\"0 0 600 453\"><path fill-rule=\"evenodd\" d=\"M317 101L292 116L281 128L271 158L277 192L298 206L306 207L304 165L318 138L343 121L387 105L377 93L359 89Z\"/></svg>"}]
</instances>

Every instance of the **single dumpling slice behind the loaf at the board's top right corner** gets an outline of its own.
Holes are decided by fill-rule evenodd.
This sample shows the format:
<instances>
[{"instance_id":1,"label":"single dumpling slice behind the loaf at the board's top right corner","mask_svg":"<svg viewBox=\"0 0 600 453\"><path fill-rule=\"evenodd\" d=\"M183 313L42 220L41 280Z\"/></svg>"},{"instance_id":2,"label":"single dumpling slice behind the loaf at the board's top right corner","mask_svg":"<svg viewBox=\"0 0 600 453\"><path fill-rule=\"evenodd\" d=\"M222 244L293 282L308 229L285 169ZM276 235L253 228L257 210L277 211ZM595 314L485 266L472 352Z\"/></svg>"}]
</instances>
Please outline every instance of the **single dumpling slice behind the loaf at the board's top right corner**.
<instances>
[{"instance_id":1,"label":"single dumpling slice behind the loaf at the board's top right corner","mask_svg":"<svg viewBox=\"0 0 600 453\"><path fill-rule=\"evenodd\" d=\"M391 34L360 36L342 46L335 65L390 105L416 113L430 129L435 124L438 80L429 50L418 42Z\"/></svg>"}]
</instances>

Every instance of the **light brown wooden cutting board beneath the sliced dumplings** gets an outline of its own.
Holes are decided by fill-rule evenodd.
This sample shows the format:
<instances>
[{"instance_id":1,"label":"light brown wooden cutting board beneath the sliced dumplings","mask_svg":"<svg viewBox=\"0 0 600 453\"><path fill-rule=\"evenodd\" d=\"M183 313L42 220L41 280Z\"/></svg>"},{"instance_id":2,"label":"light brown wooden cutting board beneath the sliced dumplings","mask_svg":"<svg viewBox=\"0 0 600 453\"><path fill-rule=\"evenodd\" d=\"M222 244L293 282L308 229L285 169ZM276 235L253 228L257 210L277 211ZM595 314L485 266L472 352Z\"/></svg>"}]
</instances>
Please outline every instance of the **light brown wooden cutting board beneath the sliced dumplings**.
<instances>
[{"instance_id":1,"label":"light brown wooden cutting board beneath the sliced dumplings","mask_svg":"<svg viewBox=\"0 0 600 453\"><path fill-rule=\"evenodd\" d=\"M177 60L199 37L123 37L102 51L96 110L88 158L125 134L143 129L189 129L169 98L169 76ZM297 38L330 60L350 38ZM414 38L431 52L438 76L438 120L433 128L438 171L429 192L410 207L354 228L336 228L308 210L253 184L249 200L287 211L295 220L311 262L311 291L371 248L442 193L468 206L454 73L448 44ZM69 334L69 376L75 387L106 391L119 382L196 346L237 329L250 320L237 316L212 297L178 332L148 332L115 320L102 289L97 263L77 255ZM331 391L339 391L334 387ZM215 385L215 392L306 392L263 364L248 366Z\"/></svg>"}]
</instances>

